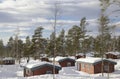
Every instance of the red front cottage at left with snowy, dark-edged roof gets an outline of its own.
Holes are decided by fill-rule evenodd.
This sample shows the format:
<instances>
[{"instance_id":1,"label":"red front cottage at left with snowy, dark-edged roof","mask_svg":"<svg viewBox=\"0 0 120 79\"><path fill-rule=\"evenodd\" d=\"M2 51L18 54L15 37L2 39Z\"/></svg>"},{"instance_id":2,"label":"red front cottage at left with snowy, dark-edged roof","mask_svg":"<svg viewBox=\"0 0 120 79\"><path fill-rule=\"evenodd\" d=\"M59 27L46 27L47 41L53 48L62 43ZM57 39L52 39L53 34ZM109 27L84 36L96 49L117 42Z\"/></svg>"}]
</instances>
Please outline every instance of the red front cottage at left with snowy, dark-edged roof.
<instances>
[{"instance_id":1,"label":"red front cottage at left with snowy, dark-edged roof","mask_svg":"<svg viewBox=\"0 0 120 79\"><path fill-rule=\"evenodd\" d=\"M58 74L61 67L57 65L54 66L52 63L49 62L28 63L24 67L24 77L42 74L53 74L54 67L55 74Z\"/></svg>"}]
</instances>

